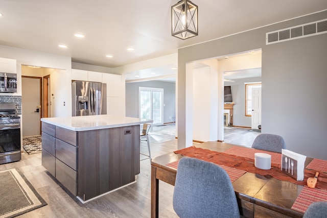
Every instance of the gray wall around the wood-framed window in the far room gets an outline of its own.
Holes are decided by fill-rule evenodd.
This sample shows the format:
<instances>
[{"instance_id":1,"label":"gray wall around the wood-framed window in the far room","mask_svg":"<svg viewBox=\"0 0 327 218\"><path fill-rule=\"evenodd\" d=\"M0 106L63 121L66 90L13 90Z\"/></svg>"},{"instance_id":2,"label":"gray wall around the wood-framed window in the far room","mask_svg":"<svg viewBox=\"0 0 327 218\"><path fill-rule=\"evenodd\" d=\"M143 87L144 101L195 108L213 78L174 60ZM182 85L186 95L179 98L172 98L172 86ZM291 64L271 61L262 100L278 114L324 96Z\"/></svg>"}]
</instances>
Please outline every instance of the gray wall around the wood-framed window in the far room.
<instances>
[{"instance_id":1,"label":"gray wall around the wood-framed window in the far room","mask_svg":"<svg viewBox=\"0 0 327 218\"><path fill-rule=\"evenodd\" d=\"M231 86L233 106L233 126L251 128L251 117L245 116L245 84L246 82L260 82L261 77L245 78L225 82L225 86Z\"/></svg>"}]
</instances>

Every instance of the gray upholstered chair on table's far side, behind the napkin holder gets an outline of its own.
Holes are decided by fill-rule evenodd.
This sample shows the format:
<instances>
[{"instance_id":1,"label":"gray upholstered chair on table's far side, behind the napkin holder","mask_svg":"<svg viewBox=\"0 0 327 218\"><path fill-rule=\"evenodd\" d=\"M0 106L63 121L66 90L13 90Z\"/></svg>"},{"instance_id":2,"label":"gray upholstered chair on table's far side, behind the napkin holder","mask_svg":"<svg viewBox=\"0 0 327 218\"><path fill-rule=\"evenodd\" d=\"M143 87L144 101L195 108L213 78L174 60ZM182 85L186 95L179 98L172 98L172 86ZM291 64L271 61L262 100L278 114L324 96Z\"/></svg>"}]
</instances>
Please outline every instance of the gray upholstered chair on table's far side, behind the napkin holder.
<instances>
[{"instance_id":1,"label":"gray upholstered chair on table's far side, behind the napkin holder","mask_svg":"<svg viewBox=\"0 0 327 218\"><path fill-rule=\"evenodd\" d=\"M260 134L254 139L252 148L269 152L282 153L282 149L286 149L286 144L282 136L273 134Z\"/></svg>"}]
</instances>

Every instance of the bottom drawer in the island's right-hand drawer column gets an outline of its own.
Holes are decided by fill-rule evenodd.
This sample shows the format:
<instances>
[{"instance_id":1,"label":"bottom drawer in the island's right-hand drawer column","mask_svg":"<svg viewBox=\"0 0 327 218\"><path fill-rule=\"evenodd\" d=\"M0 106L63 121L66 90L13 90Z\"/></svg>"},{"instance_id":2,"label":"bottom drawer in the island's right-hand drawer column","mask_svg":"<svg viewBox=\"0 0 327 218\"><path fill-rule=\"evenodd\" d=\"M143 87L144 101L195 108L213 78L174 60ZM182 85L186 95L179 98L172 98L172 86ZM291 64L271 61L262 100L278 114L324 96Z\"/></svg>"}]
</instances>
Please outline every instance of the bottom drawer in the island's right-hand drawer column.
<instances>
[{"instance_id":1,"label":"bottom drawer in the island's right-hand drawer column","mask_svg":"<svg viewBox=\"0 0 327 218\"><path fill-rule=\"evenodd\" d=\"M56 179L74 196L77 193L77 172L56 158Z\"/></svg>"}]
</instances>

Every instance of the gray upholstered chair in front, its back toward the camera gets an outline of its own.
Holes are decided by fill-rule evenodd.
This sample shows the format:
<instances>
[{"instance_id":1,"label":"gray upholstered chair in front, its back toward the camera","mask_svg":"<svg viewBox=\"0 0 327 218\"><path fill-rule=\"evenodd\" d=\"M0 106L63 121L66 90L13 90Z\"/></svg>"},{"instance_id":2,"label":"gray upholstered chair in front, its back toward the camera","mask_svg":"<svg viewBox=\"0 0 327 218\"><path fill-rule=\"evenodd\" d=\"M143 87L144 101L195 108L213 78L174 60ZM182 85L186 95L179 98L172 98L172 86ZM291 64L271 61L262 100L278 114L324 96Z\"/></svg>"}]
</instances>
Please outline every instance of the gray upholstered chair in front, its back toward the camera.
<instances>
[{"instance_id":1,"label":"gray upholstered chair in front, its back toward the camera","mask_svg":"<svg viewBox=\"0 0 327 218\"><path fill-rule=\"evenodd\" d=\"M173 207L181 218L240 217L226 171L196 158L183 157L178 163Z\"/></svg>"}]
</instances>

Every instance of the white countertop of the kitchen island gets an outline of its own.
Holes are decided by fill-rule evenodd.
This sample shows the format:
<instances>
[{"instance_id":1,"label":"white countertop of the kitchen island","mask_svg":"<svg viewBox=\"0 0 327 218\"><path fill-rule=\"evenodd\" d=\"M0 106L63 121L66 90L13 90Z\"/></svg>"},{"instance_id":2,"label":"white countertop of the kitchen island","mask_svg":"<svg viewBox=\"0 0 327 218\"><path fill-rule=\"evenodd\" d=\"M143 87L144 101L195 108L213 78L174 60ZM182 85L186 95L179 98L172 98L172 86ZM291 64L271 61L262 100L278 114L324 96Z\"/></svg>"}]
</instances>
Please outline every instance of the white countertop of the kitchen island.
<instances>
[{"instance_id":1,"label":"white countertop of the kitchen island","mask_svg":"<svg viewBox=\"0 0 327 218\"><path fill-rule=\"evenodd\" d=\"M41 121L77 132L153 123L152 119L139 119L135 117L111 116L105 114L89 116L50 117L41 118Z\"/></svg>"}]
</instances>

